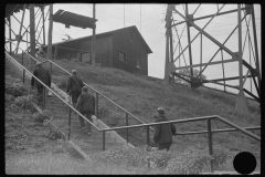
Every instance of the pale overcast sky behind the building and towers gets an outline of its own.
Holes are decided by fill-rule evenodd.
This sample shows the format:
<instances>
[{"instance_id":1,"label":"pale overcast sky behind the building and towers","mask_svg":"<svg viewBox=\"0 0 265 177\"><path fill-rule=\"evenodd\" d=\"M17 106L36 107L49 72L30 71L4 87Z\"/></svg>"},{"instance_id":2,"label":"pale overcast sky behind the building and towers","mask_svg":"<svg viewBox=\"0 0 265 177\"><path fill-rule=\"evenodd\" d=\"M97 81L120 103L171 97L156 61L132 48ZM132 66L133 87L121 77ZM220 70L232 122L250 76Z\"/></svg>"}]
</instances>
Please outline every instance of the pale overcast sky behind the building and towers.
<instances>
[{"instance_id":1,"label":"pale overcast sky behind the building and towers","mask_svg":"<svg viewBox=\"0 0 265 177\"><path fill-rule=\"evenodd\" d=\"M192 3L192 4L188 4L188 7L189 7L189 13L193 13L194 10L198 8L198 4ZM221 12L232 10L232 9L237 9L237 4L224 6L224 4L215 4L215 3L202 3L197 10L197 12L194 13L194 18L216 13L218 7L219 9L222 8ZM47 9L49 7L45 8L45 12L47 11ZM91 17L91 18L93 17L92 3L54 3L53 4L53 13L55 13L60 9L70 11L73 13ZM176 9L180 13L184 14L182 4L176 6ZM261 59L261 6L254 4L254 9L255 9L258 53ZM152 53L148 55L148 75L163 79L165 58L166 58L166 28L165 28L166 10L167 10L166 3L141 3L141 4L140 3L96 3L96 19L98 20L96 22L96 33L103 33L103 32L107 32L116 29L121 29L125 27L136 25L139 32L141 33L142 38L146 40L149 48L152 50ZM243 17L244 12L242 11L241 14ZM14 15L17 17L17 19L21 20L22 11L14 13ZM246 17L247 22L248 22L248 18L250 15ZM29 19L30 19L29 10L26 10L25 18L24 18L25 27L29 25ZM200 28L203 28L210 19L211 18L195 21L195 24L199 25ZM173 20L177 20L177 22L183 21L183 19L178 13L173 13ZM223 43L236 24L237 24L237 12L229 13L225 15L220 15L214 18L205 28L205 32L208 32L219 42ZM12 30L15 33L19 33L20 25L13 18L11 19L11 25L12 25ZM252 23L250 24L250 27L252 27ZM39 30L40 29L41 29L41 25L39 27ZM246 29L247 28L246 28L245 21L243 21L242 45L245 41L244 39L246 34ZM179 37L183 31L180 40L181 48L184 49L188 44L186 24L183 23L183 24L176 25L176 29L172 28L174 59L179 55L179 45L178 48L176 48L178 43L178 35L176 30L178 31ZM49 20L45 21L46 38L47 38L47 31L49 31ZM251 31L251 38L252 38L252 44L253 44L254 40L252 34L252 28L250 28L250 31ZM198 30L195 30L194 28L190 28L190 32L191 32L191 40L192 40L198 34ZM63 41L62 39L67 39L65 34L68 34L72 39L83 38L86 35L92 35L92 29L81 29L81 28L74 28L74 27L66 29L64 24L54 22L52 42L53 43L61 42ZM8 30L6 30L6 37L9 37ZM14 38L13 34L12 34L12 38ZM23 39L25 40L25 37ZM200 63L200 59L201 59L200 58L201 56L200 39L201 39L201 35L198 35L198 38L194 39L194 41L191 44L193 64ZM47 39L45 41L47 41ZM208 63L219 48L216 44L214 44L212 41L210 41L205 37L202 37L202 41L203 41L202 42L202 63ZM25 44L21 44L20 46L22 49L26 48ZM233 52L239 51L237 30L231 37L231 39L226 42L225 46ZM184 55L181 55L180 59L178 59L177 62L174 63L176 66L179 66L179 64L181 64L181 66L184 66L183 58L186 58L186 62L187 64L189 64L188 50L186 50L183 54ZM231 56L226 52L223 52L223 59L230 60ZM246 40L243 59L245 59L250 63L248 40ZM222 60L221 52L219 52L216 56L213 59L213 61L221 61L221 60ZM251 62L252 62L252 65L254 65L253 56L251 59ZM197 67L197 69L200 70L200 67ZM247 70L244 67L243 73L245 74ZM225 73L225 77L237 76L239 75L237 62L225 63L224 73ZM206 79L223 77L222 64L208 66L206 70L203 72L203 74L206 76ZM226 83L231 85L239 85L239 83L236 83L235 81L231 81ZM216 87L216 88L223 88L215 84L205 84L205 85ZM251 87L251 82L248 80L245 83L245 87L247 87L248 90ZM256 95L253 83L252 83L252 87L253 87L253 93ZM227 91L237 93L236 90L227 88Z\"/></svg>"}]
</instances>

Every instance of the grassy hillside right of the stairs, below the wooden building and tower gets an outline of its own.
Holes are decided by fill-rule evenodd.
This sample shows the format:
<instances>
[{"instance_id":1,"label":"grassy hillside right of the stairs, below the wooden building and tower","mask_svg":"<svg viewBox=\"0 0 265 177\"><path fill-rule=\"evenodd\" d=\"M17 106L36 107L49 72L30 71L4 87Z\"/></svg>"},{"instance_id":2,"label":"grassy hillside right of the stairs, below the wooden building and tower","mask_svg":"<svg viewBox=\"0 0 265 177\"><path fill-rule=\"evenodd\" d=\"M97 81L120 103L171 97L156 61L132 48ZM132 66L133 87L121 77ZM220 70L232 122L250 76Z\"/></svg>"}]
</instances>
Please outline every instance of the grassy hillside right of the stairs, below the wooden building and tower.
<instances>
[{"instance_id":1,"label":"grassy hillside right of the stairs, below the wooden building and tower","mask_svg":"<svg viewBox=\"0 0 265 177\"><path fill-rule=\"evenodd\" d=\"M121 70L108 67L93 67L78 62L55 61L67 71L73 69L78 71L78 75L144 122L153 122L156 108L162 106L170 119L183 119L208 115L221 115L222 117L240 125L261 125L261 112L258 104L250 102L251 112L242 113L234 110L235 97L205 88L191 91L181 85L167 85L162 82L149 81L145 76L135 76ZM54 75L62 75L56 66L53 67ZM99 96L99 118L109 126L125 125L125 113L113 106L105 98ZM138 124L134 118L129 118L129 124ZM205 122L194 122L177 125L178 131L203 131L206 129ZM214 121L213 128L229 127ZM146 131L130 131L130 142L139 145L146 142ZM258 131L255 133L259 134ZM121 132L121 135L125 135ZM259 143L243 135L242 133L221 133L213 136L214 143L221 144L233 150L251 150L259 154ZM176 148L184 149L191 144L206 144L206 135L186 135L174 138Z\"/></svg>"}]
</instances>

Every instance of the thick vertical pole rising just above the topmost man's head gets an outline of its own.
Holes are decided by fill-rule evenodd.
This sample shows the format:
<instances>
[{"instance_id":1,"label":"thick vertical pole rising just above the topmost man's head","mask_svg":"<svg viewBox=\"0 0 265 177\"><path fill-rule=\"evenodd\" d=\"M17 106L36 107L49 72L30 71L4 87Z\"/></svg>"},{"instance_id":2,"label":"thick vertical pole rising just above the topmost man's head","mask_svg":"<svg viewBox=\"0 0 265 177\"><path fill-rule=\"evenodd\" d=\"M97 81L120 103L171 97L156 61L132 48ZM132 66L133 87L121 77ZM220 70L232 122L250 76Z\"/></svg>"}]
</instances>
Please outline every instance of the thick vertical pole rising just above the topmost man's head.
<instances>
[{"instance_id":1,"label":"thick vertical pole rising just above the topmost man's head","mask_svg":"<svg viewBox=\"0 0 265 177\"><path fill-rule=\"evenodd\" d=\"M34 4L30 4L30 54L35 58L35 18L34 18ZM31 59L30 69L33 69L35 61Z\"/></svg>"}]
</instances>

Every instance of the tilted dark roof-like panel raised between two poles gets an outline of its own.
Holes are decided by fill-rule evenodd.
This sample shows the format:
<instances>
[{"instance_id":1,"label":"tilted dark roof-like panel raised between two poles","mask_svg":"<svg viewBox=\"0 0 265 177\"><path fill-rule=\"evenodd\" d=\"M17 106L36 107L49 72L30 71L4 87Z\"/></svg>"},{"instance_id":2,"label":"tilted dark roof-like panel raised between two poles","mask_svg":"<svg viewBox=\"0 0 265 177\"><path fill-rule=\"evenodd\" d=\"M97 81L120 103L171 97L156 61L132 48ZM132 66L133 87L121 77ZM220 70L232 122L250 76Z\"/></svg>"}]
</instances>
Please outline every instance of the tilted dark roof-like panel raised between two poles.
<instances>
[{"instance_id":1,"label":"tilted dark roof-like panel raised between two poles","mask_svg":"<svg viewBox=\"0 0 265 177\"><path fill-rule=\"evenodd\" d=\"M93 29L95 28L95 22L97 20L60 9L56 13L53 14L53 21L63 23L65 25L80 27L83 29L85 28Z\"/></svg>"}]
</instances>

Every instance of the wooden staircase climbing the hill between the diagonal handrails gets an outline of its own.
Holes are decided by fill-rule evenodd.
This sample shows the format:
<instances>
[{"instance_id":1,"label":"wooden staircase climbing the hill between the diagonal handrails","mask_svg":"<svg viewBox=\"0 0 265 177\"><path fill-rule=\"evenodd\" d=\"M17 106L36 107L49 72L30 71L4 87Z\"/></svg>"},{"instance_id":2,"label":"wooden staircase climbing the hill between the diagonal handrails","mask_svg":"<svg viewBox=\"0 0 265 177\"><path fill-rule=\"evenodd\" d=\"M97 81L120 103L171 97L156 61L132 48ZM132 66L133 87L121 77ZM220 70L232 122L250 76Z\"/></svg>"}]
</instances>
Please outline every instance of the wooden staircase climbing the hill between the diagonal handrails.
<instances>
[{"instance_id":1,"label":"wooden staircase climbing the hill between the diagonal handrails","mask_svg":"<svg viewBox=\"0 0 265 177\"><path fill-rule=\"evenodd\" d=\"M21 59L17 58L17 61L21 63ZM29 69L29 60L23 61L26 69ZM6 59L6 74L10 74L14 77L22 80L22 72L18 70L18 67L10 62L9 59ZM31 79L25 76L25 84L30 84ZM57 93L53 87L52 90ZM59 93L57 93L59 94ZM52 95L51 97L46 97L45 110L47 110L54 118L68 121L68 106L63 103L59 97ZM71 115L71 139L76 139L83 142L85 144L78 144L78 147L86 154L102 152L103 150L103 133L98 132L96 128L92 126L92 135L88 136L86 132L80 131L80 119L77 114ZM105 134L105 149L113 147L120 147L123 143L117 142L116 138L110 136L109 132Z\"/></svg>"}]
</instances>

